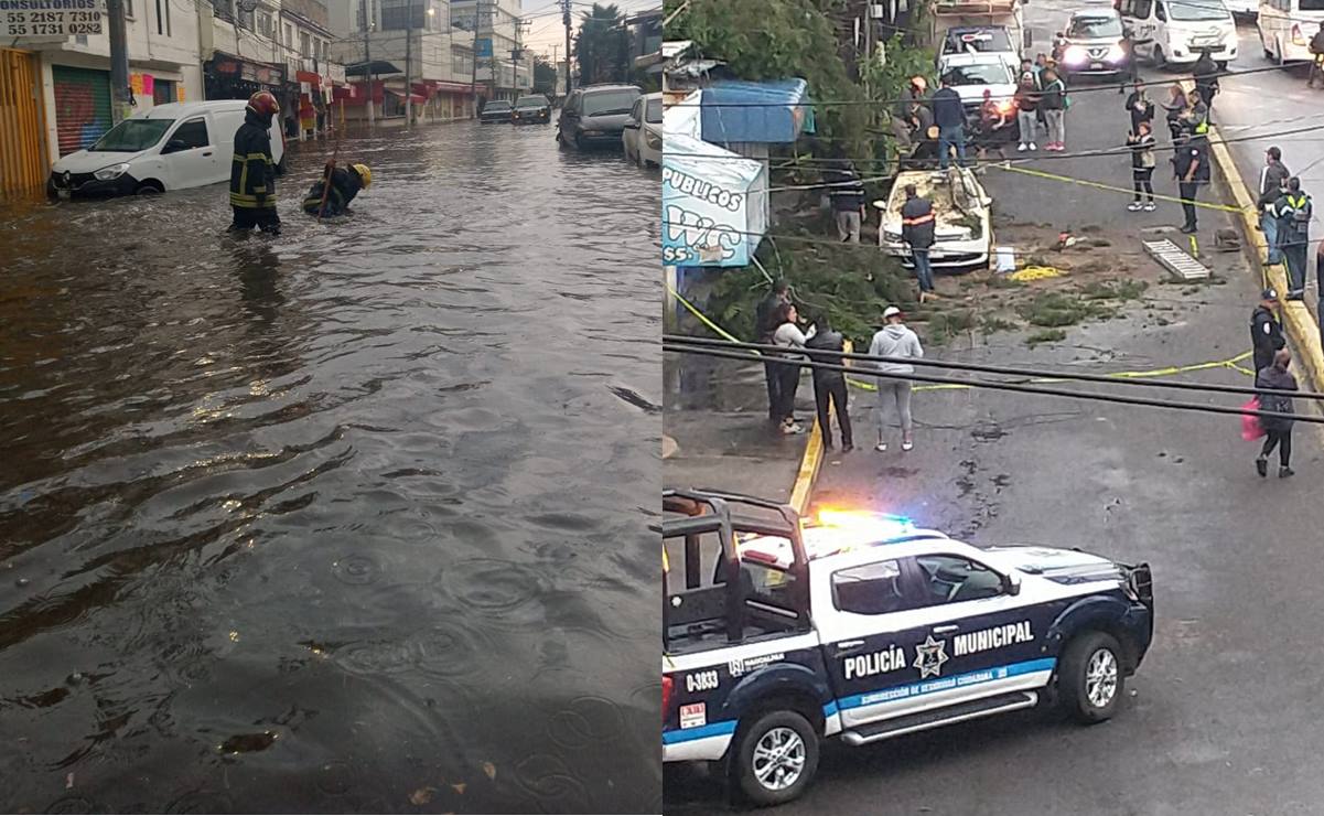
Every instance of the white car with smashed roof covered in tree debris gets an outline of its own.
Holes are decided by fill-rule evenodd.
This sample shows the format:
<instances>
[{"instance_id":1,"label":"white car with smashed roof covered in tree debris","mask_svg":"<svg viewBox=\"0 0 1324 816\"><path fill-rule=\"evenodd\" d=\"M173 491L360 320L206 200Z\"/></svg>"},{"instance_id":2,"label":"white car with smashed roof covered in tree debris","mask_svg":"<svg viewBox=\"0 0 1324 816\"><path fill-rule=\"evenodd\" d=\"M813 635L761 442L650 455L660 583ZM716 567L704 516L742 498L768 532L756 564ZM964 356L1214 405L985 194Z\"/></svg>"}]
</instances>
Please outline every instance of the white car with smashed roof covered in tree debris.
<instances>
[{"instance_id":1,"label":"white car with smashed roof covered in tree debris","mask_svg":"<svg viewBox=\"0 0 1324 816\"><path fill-rule=\"evenodd\" d=\"M902 241L902 205L906 185L933 204L933 246L928 252L933 269L970 270L985 266L993 246L993 221L989 207L993 199L984 191L974 174L965 167L945 172L908 170L896 175L891 196L874 201L882 211L878 246L911 266L910 246Z\"/></svg>"}]
</instances>

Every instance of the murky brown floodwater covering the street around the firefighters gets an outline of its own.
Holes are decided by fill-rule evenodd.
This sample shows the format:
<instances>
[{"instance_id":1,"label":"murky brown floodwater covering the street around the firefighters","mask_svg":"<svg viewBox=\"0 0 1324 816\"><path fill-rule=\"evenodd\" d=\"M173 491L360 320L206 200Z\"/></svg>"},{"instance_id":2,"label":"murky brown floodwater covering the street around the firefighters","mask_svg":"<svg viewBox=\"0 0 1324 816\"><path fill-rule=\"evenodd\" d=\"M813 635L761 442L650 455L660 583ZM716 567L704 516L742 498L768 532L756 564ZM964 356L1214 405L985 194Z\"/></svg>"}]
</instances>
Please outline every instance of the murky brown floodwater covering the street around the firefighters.
<instances>
[{"instance_id":1,"label":"murky brown floodwater covering the street around the firefighters","mask_svg":"<svg viewBox=\"0 0 1324 816\"><path fill-rule=\"evenodd\" d=\"M655 178L330 150L0 211L0 812L661 811Z\"/></svg>"}]
</instances>

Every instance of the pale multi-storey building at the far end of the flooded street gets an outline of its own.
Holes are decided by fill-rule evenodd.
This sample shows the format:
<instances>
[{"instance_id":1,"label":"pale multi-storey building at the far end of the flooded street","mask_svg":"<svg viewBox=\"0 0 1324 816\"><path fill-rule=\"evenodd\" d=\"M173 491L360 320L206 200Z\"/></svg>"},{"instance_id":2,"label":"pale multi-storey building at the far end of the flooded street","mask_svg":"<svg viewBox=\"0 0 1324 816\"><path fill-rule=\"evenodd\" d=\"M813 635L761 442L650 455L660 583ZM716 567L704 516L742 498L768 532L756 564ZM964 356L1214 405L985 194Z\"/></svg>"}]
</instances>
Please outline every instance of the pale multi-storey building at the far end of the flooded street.
<instances>
[{"instance_id":1,"label":"pale multi-storey building at the far end of the flooded street","mask_svg":"<svg viewBox=\"0 0 1324 816\"><path fill-rule=\"evenodd\" d=\"M474 83L487 99L511 99L534 87L534 56L523 48L520 0L450 0L455 28L474 32Z\"/></svg>"}]
</instances>

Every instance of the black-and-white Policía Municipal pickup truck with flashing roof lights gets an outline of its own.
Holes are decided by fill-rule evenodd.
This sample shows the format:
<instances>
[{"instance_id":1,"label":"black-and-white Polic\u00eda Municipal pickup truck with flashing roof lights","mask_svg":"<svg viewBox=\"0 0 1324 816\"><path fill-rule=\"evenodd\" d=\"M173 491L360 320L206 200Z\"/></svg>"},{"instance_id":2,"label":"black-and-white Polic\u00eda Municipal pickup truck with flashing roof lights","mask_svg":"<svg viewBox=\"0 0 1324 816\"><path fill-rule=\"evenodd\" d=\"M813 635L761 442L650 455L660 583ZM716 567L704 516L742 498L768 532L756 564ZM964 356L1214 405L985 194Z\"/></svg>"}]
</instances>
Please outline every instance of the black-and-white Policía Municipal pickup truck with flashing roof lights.
<instances>
[{"instance_id":1,"label":"black-and-white Polic\u00eda Municipal pickup truck with flashing roof lights","mask_svg":"<svg viewBox=\"0 0 1324 816\"><path fill-rule=\"evenodd\" d=\"M1147 564L980 548L875 513L663 493L663 762L752 803L851 746L1055 699L1108 719L1153 637Z\"/></svg>"}]
</instances>

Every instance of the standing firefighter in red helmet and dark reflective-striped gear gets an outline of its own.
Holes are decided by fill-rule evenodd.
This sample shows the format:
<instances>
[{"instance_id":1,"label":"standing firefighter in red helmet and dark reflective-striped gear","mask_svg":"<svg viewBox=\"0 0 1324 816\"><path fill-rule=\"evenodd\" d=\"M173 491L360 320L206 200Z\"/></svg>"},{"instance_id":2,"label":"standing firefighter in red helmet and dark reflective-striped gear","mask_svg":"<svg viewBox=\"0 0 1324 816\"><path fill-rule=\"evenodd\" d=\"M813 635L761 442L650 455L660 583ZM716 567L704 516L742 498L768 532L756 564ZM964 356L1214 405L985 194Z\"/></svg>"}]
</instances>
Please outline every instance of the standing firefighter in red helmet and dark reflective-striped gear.
<instances>
[{"instance_id":1,"label":"standing firefighter in red helmet and dark reflective-striped gear","mask_svg":"<svg viewBox=\"0 0 1324 816\"><path fill-rule=\"evenodd\" d=\"M269 91L249 97L244 125L234 132L234 160L230 162L232 230L248 232L254 227L281 234L281 216L275 212L275 176L279 170L271 158L271 119L281 105Z\"/></svg>"}]
</instances>

